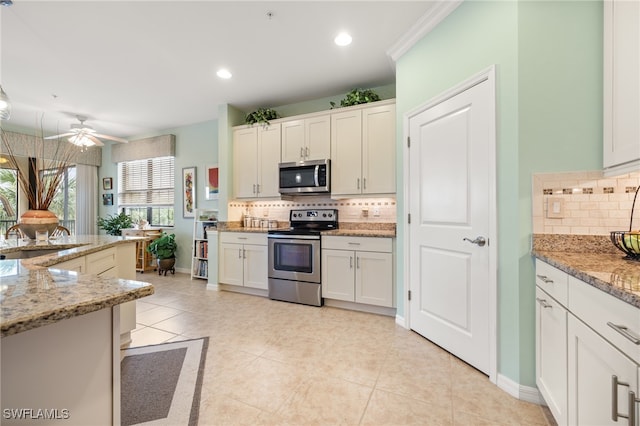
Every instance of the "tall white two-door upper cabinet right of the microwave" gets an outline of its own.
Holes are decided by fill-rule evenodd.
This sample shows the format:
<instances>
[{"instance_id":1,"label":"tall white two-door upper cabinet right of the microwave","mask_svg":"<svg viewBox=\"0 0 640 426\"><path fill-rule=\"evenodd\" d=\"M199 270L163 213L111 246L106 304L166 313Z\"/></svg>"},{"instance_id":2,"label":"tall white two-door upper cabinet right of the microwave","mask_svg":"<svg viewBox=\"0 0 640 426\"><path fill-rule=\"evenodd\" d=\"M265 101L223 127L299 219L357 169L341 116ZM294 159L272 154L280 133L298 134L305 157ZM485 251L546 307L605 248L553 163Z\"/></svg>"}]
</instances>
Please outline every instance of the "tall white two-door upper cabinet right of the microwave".
<instances>
[{"instance_id":1,"label":"tall white two-door upper cabinet right of the microwave","mask_svg":"<svg viewBox=\"0 0 640 426\"><path fill-rule=\"evenodd\" d=\"M395 103L331 114L331 194L395 194Z\"/></svg>"}]
</instances>

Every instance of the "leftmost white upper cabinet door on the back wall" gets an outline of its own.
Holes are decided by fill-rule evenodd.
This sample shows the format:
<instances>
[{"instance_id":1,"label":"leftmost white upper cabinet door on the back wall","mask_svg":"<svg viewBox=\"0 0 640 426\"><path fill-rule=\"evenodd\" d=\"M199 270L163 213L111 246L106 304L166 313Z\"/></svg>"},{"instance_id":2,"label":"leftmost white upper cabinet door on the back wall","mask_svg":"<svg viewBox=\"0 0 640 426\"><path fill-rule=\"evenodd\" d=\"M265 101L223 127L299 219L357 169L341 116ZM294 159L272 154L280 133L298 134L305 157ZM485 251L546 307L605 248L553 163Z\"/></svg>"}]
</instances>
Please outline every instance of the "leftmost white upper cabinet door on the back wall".
<instances>
[{"instance_id":1,"label":"leftmost white upper cabinet door on the back wall","mask_svg":"<svg viewBox=\"0 0 640 426\"><path fill-rule=\"evenodd\" d=\"M236 198L256 197L258 184L258 128L233 132L233 187Z\"/></svg>"}]
</instances>

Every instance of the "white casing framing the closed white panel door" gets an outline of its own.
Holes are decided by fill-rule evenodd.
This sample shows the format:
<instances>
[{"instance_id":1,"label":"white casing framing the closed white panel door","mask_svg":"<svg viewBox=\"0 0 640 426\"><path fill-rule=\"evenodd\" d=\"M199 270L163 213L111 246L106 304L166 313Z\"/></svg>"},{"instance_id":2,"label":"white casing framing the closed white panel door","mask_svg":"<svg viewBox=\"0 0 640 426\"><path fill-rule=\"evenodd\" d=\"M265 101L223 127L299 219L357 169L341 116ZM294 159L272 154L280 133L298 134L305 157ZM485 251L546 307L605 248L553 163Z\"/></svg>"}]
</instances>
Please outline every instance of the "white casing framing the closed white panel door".
<instances>
[{"instance_id":1,"label":"white casing framing the closed white panel door","mask_svg":"<svg viewBox=\"0 0 640 426\"><path fill-rule=\"evenodd\" d=\"M497 204L497 194L496 194L496 146L497 146L497 135L496 135L496 123L497 123L497 114L496 114L496 66L491 65L489 68L475 74L469 79L463 81L462 83L446 90L445 92L429 99L424 104L406 112L403 118L403 145L404 145L404 153L403 153L403 181L405 184L403 185L404 191L404 200L403 200L403 212L404 214L410 213L410 205L409 205L409 185L406 182L409 182L409 148L404 143L409 137L409 123L411 118L416 115L422 113L426 109L432 108L433 106L450 99L459 93L464 92L465 90L476 86L484 81L487 81L490 85L490 91L492 93L492 97L489 100L491 103L490 109L493 113L493 120L491 120L489 126L489 138L492 141L491 152L489 154L489 242L487 249L489 252L489 380L493 383L497 381L498 375L498 339L497 339L497 318L498 318L498 228L497 228L497 215L498 215L498 204ZM405 220L404 218L402 220ZM405 232L405 235L408 235ZM407 328L411 328L411 310L409 306L408 300L408 291L411 290L411 280L410 280L410 238L404 238L403 241L404 246L404 262L402 267L404 268L404 277L405 277L405 288L404 288L404 306L405 306L405 319ZM416 292L417 293L417 292Z\"/></svg>"}]
</instances>

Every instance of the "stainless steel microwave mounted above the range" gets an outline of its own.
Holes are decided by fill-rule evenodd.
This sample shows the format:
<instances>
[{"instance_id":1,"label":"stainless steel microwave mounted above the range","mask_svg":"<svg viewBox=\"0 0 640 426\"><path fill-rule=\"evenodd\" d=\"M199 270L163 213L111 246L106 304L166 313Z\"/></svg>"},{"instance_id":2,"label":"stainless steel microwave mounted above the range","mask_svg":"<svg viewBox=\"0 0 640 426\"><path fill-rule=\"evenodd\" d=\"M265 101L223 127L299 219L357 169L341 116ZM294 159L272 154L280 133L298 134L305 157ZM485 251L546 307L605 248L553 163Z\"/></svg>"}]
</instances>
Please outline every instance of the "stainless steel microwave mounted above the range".
<instances>
[{"instance_id":1,"label":"stainless steel microwave mounted above the range","mask_svg":"<svg viewBox=\"0 0 640 426\"><path fill-rule=\"evenodd\" d=\"M310 195L331 191L331 160L280 163L280 193Z\"/></svg>"}]
</instances>

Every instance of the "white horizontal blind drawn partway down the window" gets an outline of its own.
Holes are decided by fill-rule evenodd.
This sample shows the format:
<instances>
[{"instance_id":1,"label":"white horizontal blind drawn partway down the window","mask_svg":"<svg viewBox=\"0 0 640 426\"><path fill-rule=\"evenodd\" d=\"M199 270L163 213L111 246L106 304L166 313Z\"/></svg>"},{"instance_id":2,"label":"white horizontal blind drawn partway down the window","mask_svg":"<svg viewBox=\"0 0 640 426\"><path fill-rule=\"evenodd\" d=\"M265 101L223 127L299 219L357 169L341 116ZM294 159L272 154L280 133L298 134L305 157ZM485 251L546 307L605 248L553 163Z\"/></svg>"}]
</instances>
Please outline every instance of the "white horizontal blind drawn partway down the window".
<instances>
[{"instance_id":1,"label":"white horizontal blind drawn partway down the window","mask_svg":"<svg viewBox=\"0 0 640 426\"><path fill-rule=\"evenodd\" d=\"M174 163L174 157L118 163L118 205L173 207Z\"/></svg>"}]
</instances>

